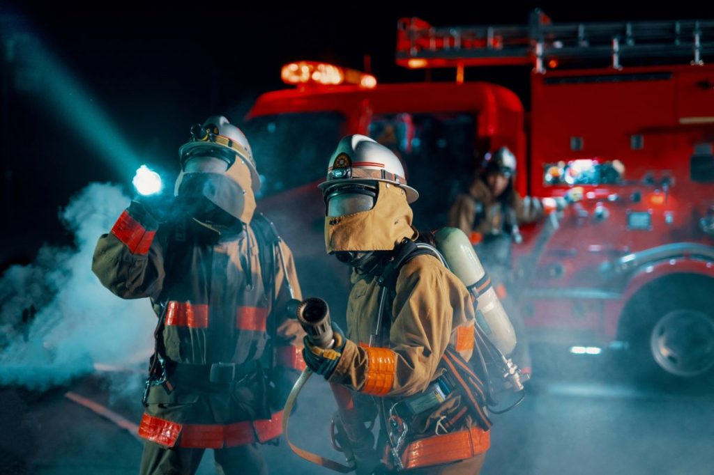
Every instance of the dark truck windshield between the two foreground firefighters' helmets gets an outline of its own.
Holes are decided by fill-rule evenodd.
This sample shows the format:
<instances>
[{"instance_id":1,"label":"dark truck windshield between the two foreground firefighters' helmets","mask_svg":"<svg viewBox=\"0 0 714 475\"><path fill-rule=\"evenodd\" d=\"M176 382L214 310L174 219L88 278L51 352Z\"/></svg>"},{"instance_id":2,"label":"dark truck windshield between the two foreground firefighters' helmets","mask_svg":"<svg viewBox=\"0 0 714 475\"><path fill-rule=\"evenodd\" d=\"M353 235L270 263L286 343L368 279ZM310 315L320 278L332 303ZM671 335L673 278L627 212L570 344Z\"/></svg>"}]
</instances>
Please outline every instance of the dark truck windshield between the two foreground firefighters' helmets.
<instances>
[{"instance_id":1,"label":"dark truck windshield between the two foreground firefighters' helmets","mask_svg":"<svg viewBox=\"0 0 714 475\"><path fill-rule=\"evenodd\" d=\"M258 198L323 178L343 135L340 113L283 113L251 118L243 131L261 174Z\"/></svg>"}]
</instances>

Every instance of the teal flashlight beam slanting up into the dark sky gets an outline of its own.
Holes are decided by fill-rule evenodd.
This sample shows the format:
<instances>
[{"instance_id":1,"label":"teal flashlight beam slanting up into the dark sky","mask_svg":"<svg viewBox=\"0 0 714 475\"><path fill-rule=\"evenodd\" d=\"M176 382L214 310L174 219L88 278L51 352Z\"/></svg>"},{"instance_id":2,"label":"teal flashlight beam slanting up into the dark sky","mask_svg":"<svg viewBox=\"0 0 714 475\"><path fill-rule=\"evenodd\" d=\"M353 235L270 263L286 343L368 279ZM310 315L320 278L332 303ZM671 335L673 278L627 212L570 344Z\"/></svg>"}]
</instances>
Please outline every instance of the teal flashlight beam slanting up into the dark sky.
<instances>
[{"instance_id":1,"label":"teal flashlight beam slanting up into the dark sky","mask_svg":"<svg viewBox=\"0 0 714 475\"><path fill-rule=\"evenodd\" d=\"M129 143L95 99L39 40L31 41L29 56L46 80L46 97L61 120L90 143L120 175L141 164Z\"/></svg>"}]
</instances>

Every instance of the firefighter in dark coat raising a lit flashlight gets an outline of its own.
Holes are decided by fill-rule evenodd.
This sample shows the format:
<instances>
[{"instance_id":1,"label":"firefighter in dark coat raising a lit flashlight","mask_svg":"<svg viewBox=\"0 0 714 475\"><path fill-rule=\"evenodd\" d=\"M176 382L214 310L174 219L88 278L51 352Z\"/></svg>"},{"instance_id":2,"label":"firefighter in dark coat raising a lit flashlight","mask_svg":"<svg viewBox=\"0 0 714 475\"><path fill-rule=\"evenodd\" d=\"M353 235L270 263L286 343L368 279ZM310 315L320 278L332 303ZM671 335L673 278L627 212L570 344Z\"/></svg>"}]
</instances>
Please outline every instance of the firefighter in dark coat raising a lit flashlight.
<instances>
[{"instance_id":1,"label":"firefighter in dark coat raising a lit flashlight","mask_svg":"<svg viewBox=\"0 0 714 475\"><path fill-rule=\"evenodd\" d=\"M246 136L214 116L191 128L169 198L143 167L140 193L96 245L92 269L156 315L139 434L141 474L193 474L204 449L221 473L265 474L258 444L281 434L303 332L288 319L300 298L291 251L255 213L260 188Z\"/></svg>"}]
</instances>

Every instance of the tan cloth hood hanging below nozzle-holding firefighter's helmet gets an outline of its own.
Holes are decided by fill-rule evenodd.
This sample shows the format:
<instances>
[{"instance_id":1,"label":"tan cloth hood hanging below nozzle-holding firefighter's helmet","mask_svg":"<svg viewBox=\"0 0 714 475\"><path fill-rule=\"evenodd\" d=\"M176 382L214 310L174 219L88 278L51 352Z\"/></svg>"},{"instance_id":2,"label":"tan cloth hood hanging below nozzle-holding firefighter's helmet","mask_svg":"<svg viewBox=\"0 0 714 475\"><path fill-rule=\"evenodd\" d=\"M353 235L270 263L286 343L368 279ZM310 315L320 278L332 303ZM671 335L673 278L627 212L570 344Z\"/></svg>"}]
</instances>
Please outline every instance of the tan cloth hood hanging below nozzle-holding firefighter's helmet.
<instances>
[{"instance_id":1,"label":"tan cloth hood hanging below nozzle-holding firefighter's helmet","mask_svg":"<svg viewBox=\"0 0 714 475\"><path fill-rule=\"evenodd\" d=\"M374 208L361 213L325 218L327 253L336 251L393 250L405 237L418 235L403 188L378 182Z\"/></svg>"}]
</instances>

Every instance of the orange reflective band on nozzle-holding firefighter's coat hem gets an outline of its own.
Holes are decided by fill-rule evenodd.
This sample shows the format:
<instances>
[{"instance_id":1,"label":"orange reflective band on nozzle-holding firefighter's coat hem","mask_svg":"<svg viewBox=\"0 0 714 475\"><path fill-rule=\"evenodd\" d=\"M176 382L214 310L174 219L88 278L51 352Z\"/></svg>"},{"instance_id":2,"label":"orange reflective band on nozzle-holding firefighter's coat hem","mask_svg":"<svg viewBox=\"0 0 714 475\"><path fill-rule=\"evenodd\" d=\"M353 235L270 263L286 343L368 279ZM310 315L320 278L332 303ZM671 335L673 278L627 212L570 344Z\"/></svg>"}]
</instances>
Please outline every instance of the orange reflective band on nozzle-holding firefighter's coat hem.
<instances>
[{"instance_id":1,"label":"orange reflective band on nozzle-holding firefighter's coat hem","mask_svg":"<svg viewBox=\"0 0 714 475\"><path fill-rule=\"evenodd\" d=\"M409 444L402 456L405 469L448 464L483 454L491 446L491 432L481 427L427 437Z\"/></svg>"}]
</instances>

